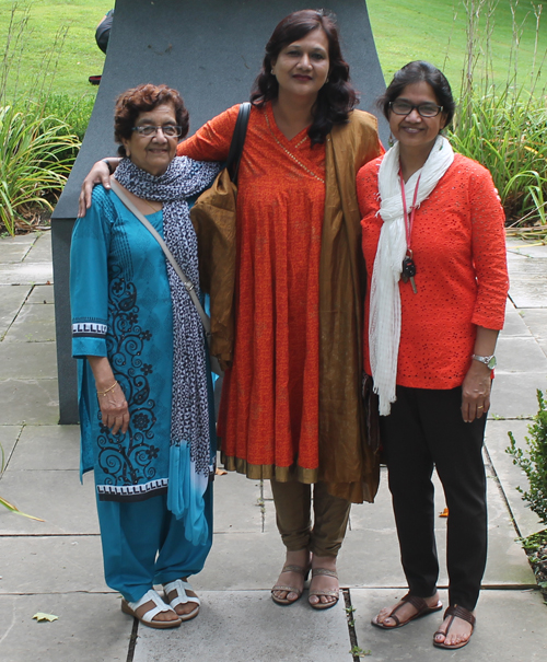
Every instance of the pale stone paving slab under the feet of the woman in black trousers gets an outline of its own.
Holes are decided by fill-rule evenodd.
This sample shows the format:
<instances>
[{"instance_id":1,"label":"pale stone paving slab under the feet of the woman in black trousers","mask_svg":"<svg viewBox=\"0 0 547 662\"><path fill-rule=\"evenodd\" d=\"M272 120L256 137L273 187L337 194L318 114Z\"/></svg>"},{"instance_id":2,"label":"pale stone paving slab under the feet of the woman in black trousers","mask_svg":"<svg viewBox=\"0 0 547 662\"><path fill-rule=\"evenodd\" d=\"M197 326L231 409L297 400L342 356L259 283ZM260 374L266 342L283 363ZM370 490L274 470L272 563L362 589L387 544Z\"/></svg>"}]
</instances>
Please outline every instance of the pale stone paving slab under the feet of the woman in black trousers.
<instances>
[{"instance_id":1,"label":"pale stone paving slab under the feet of the woman in black trousers","mask_svg":"<svg viewBox=\"0 0 547 662\"><path fill-rule=\"evenodd\" d=\"M437 649L433 632L442 612L420 618L393 631L373 627L370 619L394 604L404 591L351 589L359 646L370 650L370 662L528 662L547 659L547 608L538 591L482 591L477 606L477 626L470 642L458 651ZM447 605L447 595L441 591Z\"/></svg>"}]
</instances>

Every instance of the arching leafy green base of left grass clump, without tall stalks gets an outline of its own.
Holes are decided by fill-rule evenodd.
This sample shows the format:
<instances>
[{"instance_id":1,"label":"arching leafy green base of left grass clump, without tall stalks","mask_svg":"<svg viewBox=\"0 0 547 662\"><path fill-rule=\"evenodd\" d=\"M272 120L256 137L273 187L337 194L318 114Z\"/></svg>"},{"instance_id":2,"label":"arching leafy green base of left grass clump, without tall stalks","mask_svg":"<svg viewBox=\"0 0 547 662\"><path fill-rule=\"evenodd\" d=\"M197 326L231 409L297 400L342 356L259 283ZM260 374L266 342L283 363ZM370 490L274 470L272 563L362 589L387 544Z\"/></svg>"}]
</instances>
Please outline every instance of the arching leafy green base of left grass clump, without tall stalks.
<instances>
[{"instance_id":1,"label":"arching leafy green base of left grass clump, without tall stalks","mask_svg":"<svg viewBox=\"0 0 547 662\"><path fill-rule=\"evenodd\" d=\"M65 121L34 111L0 107L0 222L12 235L36 209L53 210L80 147Z\"/></svg>"}]
</instances>

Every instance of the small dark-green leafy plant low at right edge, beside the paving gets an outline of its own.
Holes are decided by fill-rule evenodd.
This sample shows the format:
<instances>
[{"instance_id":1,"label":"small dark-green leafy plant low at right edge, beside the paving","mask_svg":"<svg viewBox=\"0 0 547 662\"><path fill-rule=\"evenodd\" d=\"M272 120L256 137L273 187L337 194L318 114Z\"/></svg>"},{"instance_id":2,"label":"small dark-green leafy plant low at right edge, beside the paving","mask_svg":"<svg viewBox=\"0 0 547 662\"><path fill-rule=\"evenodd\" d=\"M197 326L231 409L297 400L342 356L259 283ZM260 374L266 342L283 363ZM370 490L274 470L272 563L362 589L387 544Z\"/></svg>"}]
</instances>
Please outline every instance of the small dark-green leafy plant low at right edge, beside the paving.
<instances>
[{"instance_id":1,"label":"small dark-green leafy plant low at right edge, beside the paving","mask_svg":"<svg viewBox=\"0 0 547 662\"><path fill-rule=\"evenodd\" d=\"M542 391L537 390L539 410L534 422L528 426L529 437L525 437L527 454L516 445L512 432L508 432L511 440L505 450L513 457L513 464L521 468L528 479L529 489L516 489L539 518L547 524L547 402Z\"/></svg>"}]
</instances>

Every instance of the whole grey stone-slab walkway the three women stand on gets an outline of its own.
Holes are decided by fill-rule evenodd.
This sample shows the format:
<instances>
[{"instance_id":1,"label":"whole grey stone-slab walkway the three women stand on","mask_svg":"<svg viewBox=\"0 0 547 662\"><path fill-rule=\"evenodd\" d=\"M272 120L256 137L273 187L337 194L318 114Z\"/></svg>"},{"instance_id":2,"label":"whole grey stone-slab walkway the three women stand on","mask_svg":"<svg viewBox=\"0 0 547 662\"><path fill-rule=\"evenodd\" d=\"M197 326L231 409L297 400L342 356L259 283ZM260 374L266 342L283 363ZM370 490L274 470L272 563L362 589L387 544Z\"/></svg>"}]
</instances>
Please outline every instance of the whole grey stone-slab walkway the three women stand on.
<instances>
[{"instance_id":1,"label":"whole grey stone-slab walkway the three women stand on","mask_svg":"<svg viewBox=\"0 0 547 662\"><path fill-rule=\"evenodd\" d=\"M0 660L2 662L351 662L344 602L323 613L305 600L282 608L269 599L281 567L271 493L229 474L216 480L214 545L194 578L199 617L177 630L137 628L104 584L92 477L78 479L77 427L60 427L48 233L0 240L0 442L7 467L0 495L34 522L0 508ZM395 526L385 479L374 506L353 507L339 559L353 634L371 661L458 662L547 659L547 607L517 532L540 529L515 486L525 478L504 449L507 431L523 443L547 390L547 246L510 242L511 300L498 346L487 427L490 547L478 625L457 653L434 649L434 615L385 632L370 625L403 595ZM439 512L444 508L438 491ZM439 519L440 554L446 521ZM442 570L441 585L446 585ZM445 591L441 591L445 600ZM36 623L33 615L58 616ZM357 660L357 658L354 658Z\"/></svg>"}]
</instances>

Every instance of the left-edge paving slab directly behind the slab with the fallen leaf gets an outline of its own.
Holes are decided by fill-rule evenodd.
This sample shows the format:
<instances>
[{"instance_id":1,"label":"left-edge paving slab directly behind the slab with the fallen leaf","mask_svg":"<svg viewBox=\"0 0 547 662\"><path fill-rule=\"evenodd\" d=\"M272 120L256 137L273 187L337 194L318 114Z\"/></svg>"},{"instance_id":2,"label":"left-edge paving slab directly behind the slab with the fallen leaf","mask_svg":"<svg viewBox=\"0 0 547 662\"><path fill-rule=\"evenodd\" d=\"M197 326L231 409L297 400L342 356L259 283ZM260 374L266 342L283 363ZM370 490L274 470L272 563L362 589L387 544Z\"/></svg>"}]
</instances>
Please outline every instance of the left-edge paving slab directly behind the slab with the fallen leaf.
<instances>
[{"instance_id":1,"label":"left-edge paving slab directly behind the slab with the fallen leaf","mask_svg":"<svg viewBox=\"0 0 547 662\"><path fill-rule=\"evenodd\" d=\"M110 592L104 581L98 534L7 536L1 538L0 544L0 596L74 591Z\"/></svg>"}]
</instances>

